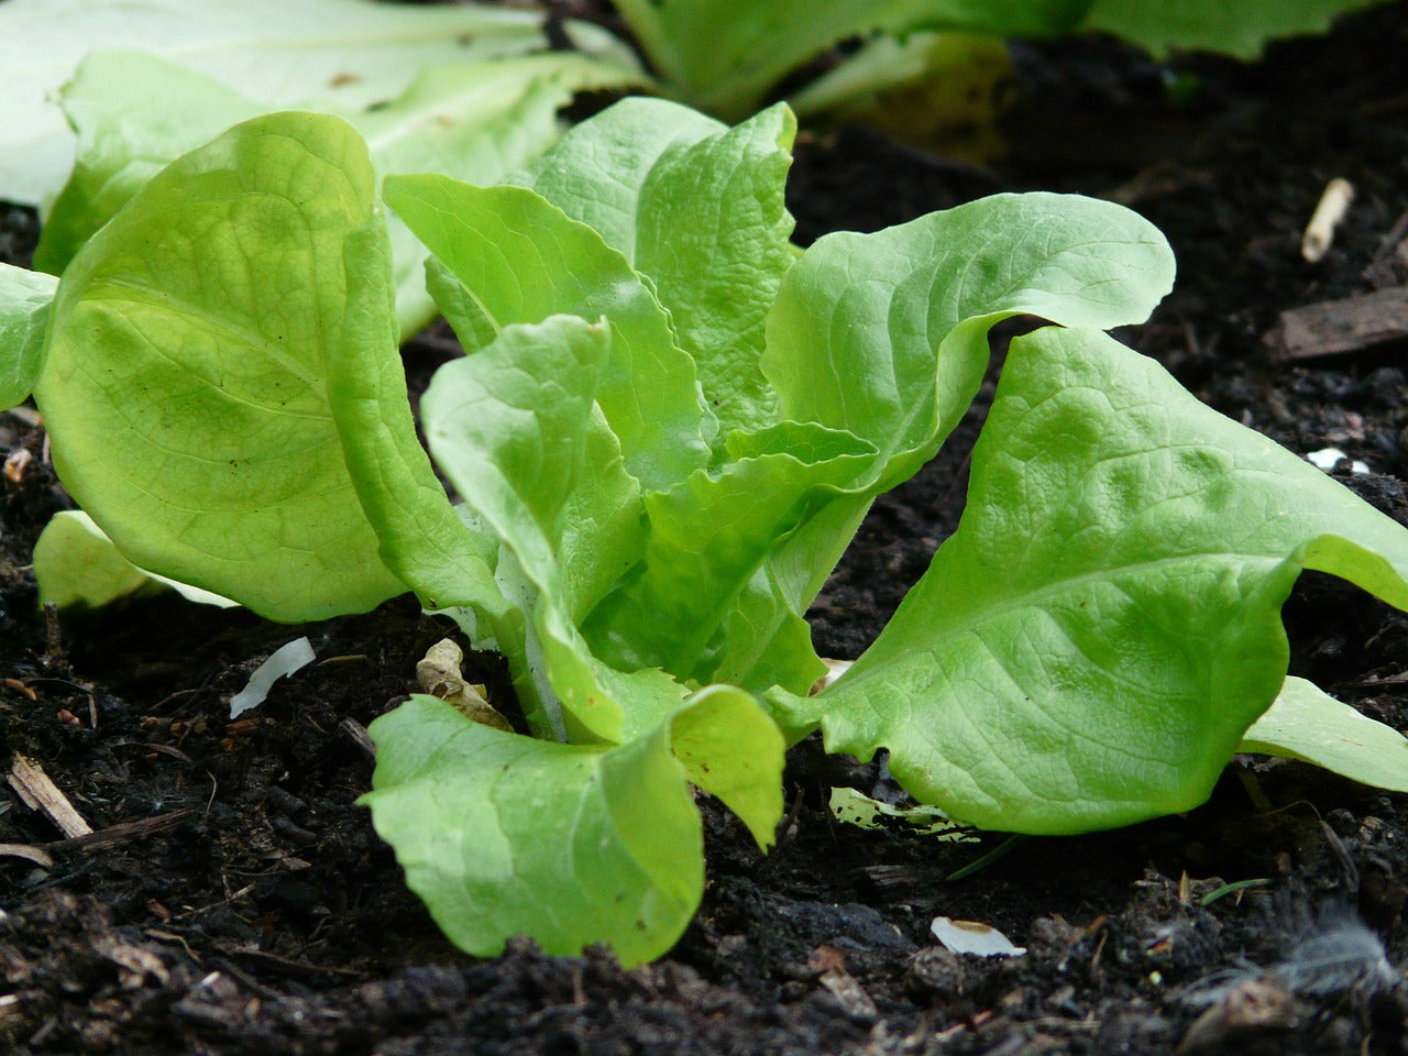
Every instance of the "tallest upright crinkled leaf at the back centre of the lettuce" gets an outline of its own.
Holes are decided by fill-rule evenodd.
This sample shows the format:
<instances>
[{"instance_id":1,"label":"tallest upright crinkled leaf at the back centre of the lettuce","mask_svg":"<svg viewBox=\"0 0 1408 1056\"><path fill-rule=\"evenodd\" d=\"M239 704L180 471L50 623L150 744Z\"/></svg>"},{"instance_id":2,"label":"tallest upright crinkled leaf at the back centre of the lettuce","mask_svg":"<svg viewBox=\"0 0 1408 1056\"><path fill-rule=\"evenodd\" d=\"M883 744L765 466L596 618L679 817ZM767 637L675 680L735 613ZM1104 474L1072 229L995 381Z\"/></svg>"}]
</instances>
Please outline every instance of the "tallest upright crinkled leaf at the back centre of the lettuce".
<instances>
[{"instance_id":1,"label":"tallest upright crinkled leaf at the back centre of the lettuce","mask_svg":"<svg viewBox=\"0 0 1408 1056\"><path fill-rule=\"evenodd\" d=\"M513 177L596 227L650 280L694 358L719 444L776 417L758 360L794 259L783 189L796 131L784 106L727 128L663 100L625 100Z\"/></svg>"}]
</instances>

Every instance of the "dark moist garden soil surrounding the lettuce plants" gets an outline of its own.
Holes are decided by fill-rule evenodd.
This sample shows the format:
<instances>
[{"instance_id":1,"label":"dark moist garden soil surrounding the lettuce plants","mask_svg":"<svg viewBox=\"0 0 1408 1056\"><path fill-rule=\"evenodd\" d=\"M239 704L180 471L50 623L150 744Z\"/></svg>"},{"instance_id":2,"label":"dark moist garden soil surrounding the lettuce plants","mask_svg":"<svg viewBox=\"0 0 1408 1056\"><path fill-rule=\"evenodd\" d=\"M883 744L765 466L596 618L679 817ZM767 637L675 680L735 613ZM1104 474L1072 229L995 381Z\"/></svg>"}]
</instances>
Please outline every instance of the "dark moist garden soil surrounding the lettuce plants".
<instances>
[{"instance_id":1,"label":"dark moist garden soil surrounding the lettuce plants","mask_svg":"<svg viewBox=\"0 0 1408 1056\"><path fill-rule=\"evenodd\" d=\"M1333 472L1408 524L1408 344L1288 359L1274 338L1284 311L1408 283L1405 54L1405 4L1250 66L1022 46L1008 149L983 168L855 128L805 134L797 238L997 190L1124 201L1169 235L1180 276L1121 337L1293 451L1362 460L1367 473ZM1307 263L1300 232L1336 176L1357 197ZM0 256L23 262L32 214L0 215ZM455 351L445 329L413 342L413 389ZM817 601L822 655L863 649L953 529L990 396L877 503ZM408 598L298 628L173 597L46 621L25 565L68 500L32 417L6 415L0 448L0 759L37 760L96 831L63 839L0 788L0 843L20 845L0 855L0 1050L1408 1053L1408 797L1256 758L1186 815L945 842L834 821L831 786L894 790L879 766L804 742L770 855L703 804L704 904L659 963L624 972L605 952L545 957L527 942L474 960L353 805L372 774L360 729L413 690L449 628ZM1305 576L1286 618L1293 673L1408 727L1402 615ZM231 722L230 694L304 634L318 663ZM472 666L503 698L494 659ZM994 925L1026 953L948 953L938 915ZM1305 967L1326 938L1346 970Z\"/></svg>"}]
</instances>

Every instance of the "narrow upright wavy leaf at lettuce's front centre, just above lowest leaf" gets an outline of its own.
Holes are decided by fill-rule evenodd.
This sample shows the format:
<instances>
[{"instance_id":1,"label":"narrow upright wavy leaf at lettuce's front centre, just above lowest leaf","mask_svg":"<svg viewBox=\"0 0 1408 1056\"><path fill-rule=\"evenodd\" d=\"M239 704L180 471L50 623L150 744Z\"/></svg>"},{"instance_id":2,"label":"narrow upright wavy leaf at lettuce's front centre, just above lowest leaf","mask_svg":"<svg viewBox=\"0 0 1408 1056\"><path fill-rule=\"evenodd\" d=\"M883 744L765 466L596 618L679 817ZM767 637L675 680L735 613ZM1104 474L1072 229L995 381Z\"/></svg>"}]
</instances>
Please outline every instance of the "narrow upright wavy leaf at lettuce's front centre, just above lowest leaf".
<instances>
[{"instance_id":1,"label":"narrow upright wavy leaf at lettuce's front centre, just above lowest leaf","mask_svg":"<svg viewBox=\"0 0 1408 1056\"><path fill-rule=\"evenodd\" d=\"M431 453L500 545L508 607L476 624L504 649L529 724L558 739L629 741L684 696L663 672L600 663L579 631L643 546L639 484L594 400L610 342L572 315L510 325L441 367L421 401Z\"/></svg>"}]
</instances>

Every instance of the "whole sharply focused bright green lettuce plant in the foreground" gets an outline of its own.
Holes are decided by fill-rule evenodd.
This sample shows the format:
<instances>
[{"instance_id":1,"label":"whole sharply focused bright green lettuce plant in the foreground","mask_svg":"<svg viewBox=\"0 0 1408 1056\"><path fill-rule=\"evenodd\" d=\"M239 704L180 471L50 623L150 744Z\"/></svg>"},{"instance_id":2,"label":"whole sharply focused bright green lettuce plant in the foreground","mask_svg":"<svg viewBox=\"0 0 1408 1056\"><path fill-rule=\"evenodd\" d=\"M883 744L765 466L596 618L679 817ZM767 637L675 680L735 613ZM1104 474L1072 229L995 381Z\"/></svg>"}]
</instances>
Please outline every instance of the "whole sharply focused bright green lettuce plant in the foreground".
<instances>
[{"instance_id":1,"label":"whole sharply focused bright green lettuce plant in the foreground","mask_svg":"<svg viewBox=\"0 0 1408 1056\"><path fill-rule=\"evenodd\" d=\"M505 655L527 732L413 697L372 725L365 798L480 955L520 932L667 949L704 883L691 786L766 848L784 743L817 728L1036 834L1190 808L1243 736L1404 773L1393 731L1301 684L1273 701L1301 569L1408 608L1408 532L1104 332L1169 289L1159 232L997 196L798 253L793 132L786 107L729 128L628 100L503 186L387 179L466 349L421 401L427 455L366 145L314 114L235 125L137 191L52 304L15 298L48 313L55 466L149 573L283 621L410 587ZM1059 328L1012 344L957 532L808 696L811 600L1014 314Z\"/></svg>"}]
</instances>

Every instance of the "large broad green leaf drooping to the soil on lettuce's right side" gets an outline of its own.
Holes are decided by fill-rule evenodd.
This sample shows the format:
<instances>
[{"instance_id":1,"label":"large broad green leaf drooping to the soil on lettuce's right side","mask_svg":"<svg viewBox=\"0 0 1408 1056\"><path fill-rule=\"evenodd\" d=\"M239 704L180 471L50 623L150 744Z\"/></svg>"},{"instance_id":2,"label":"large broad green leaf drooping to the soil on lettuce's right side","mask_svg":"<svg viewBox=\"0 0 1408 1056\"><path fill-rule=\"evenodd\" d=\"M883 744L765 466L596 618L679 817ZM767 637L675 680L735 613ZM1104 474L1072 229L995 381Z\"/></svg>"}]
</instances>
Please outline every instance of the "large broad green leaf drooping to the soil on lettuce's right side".
<instances>
[{"instance_id":1,"label":"large broad green leaf drooping to the soil on lettuce's right side","mask_svg":"<svg viewBox=\"0 0 1408 1056\"><path fill-rule=\"evenodd\" d=\"M793 735L986 828L1201 803L1281 689L1302 569L1408 608L1408 532L1088 331L1012 344L957 532Z\"/></svg>"}]
</instances>

